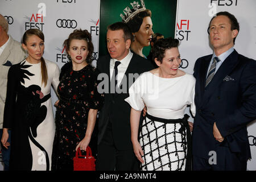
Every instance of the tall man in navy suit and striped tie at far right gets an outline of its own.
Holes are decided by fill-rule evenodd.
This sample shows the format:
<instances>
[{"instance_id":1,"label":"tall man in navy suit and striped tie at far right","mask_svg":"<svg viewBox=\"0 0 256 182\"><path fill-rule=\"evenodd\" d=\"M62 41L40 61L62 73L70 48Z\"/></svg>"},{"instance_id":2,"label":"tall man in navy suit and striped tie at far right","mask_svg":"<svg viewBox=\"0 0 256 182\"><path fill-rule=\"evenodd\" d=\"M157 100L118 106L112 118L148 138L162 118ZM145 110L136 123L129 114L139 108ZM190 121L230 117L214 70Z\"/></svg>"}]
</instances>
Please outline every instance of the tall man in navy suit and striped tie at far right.
<instances>
[{"instance_id":1,"label":"tall man in navy suit and striped tie at far right","mask_svg":"<svg viewBox=\"0 0 256 182\"><path fill-rule=\"evenodd\" d=\"M256 61L233 48L239 30L234 15L217 13L208 28L214 52L195 63L193 170L246 170L251 158L246 125L256 119Z\"/></svg>"}]
</instances>

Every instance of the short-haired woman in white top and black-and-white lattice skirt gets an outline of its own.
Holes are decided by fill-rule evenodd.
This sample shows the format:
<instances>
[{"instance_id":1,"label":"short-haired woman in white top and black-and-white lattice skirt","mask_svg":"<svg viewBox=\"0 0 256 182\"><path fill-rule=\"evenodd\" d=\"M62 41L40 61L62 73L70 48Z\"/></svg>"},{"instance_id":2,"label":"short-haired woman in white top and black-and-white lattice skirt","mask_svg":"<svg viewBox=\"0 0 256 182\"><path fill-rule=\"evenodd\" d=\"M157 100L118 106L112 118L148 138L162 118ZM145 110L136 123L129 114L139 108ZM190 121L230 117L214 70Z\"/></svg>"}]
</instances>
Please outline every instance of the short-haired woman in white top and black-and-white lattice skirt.
<instances>
[{"instance_id":1,"label":"short-haired woman in white top and black-and-white lattice skirt","mask_svg":"<svg viewBox=\"0 0 256 182\"><path fill-rule=\"evenodd\" d=\"M191 105L195 115L195 78L178 69L181 63L178 45L179 40L172 38L155 43L153 58L159 68L142 73L130 87L130 97L125 99L132 107L131 140L142 170L191 167L192 123L188 123L185 108ZM144 104L147 113L139 129Z\"/></svg>"}]
</instances>

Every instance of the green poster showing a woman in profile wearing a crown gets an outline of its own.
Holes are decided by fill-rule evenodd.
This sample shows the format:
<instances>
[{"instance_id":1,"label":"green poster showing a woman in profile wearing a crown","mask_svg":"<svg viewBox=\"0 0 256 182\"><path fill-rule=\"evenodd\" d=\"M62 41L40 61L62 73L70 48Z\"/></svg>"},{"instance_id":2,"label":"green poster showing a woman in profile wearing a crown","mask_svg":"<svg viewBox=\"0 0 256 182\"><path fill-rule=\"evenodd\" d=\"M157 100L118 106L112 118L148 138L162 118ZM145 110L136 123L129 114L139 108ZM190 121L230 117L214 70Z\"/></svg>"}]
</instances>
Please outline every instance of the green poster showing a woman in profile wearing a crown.
<instances>
[{"instance_id":1,"label":"green poster showing a woman in profile wearing a crown","mask_svg":"<svg viewBox=\"0 0 256 182\"><path fill-rule=\"evenodd\" d=\"M177 0L101 0L100 3L99 57L108 54L107 27L115 22L129 25L134 36L130 49L145 58L150 54L150 40L155 41L156 35L157 39L175 37ZM145 23L149 26L143 27Z\"/></svg>"}]
</instances>

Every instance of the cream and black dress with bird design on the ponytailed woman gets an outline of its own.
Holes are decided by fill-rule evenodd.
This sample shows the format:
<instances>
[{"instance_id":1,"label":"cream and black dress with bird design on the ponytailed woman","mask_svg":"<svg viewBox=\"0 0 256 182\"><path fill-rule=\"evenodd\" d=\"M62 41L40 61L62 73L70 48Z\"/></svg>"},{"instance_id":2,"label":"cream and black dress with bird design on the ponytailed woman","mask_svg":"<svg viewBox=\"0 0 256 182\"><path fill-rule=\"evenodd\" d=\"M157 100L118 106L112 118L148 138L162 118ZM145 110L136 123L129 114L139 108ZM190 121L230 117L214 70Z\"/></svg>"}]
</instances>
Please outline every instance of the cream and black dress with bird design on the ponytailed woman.
<instances>
[{"instance_id":1,"label":"cream and black dress with bird design on the ponytailed woman","mask_svg":"<svg viewBox=\"0 0 256 182\"><path fill-rule=\"evenodd\" d=\"M41 63L23 60L8 73L3 127L11 129L10 169L46 171L51 169L55 122L51 85L59 84L59 67L45 60L48 80L42 84Z\"/></svg>"}]
</instances>

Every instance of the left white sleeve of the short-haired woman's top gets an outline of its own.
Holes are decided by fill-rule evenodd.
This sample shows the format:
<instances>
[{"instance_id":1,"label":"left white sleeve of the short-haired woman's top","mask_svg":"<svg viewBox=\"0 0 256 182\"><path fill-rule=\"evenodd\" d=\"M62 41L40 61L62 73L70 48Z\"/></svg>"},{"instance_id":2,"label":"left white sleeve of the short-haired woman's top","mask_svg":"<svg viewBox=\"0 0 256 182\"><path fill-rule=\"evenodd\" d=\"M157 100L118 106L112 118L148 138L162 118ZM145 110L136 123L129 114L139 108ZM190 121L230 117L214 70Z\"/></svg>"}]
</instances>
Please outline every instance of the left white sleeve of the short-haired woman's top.
<instances>
[{"instance_id":1,"label":"left white sleeve of the short-haired woman's top","mask_svg":"<svg viewBox=\"0 0 256 182\"><path fill-rule=\"evenodd\" d=\"M142 111L144 108L144 102L142 99L142 77L138 77L138 79L131 85L129 89L129 97L125 99L126 102L130 104L133 109Z\"/></svg>"}]
</instances>

